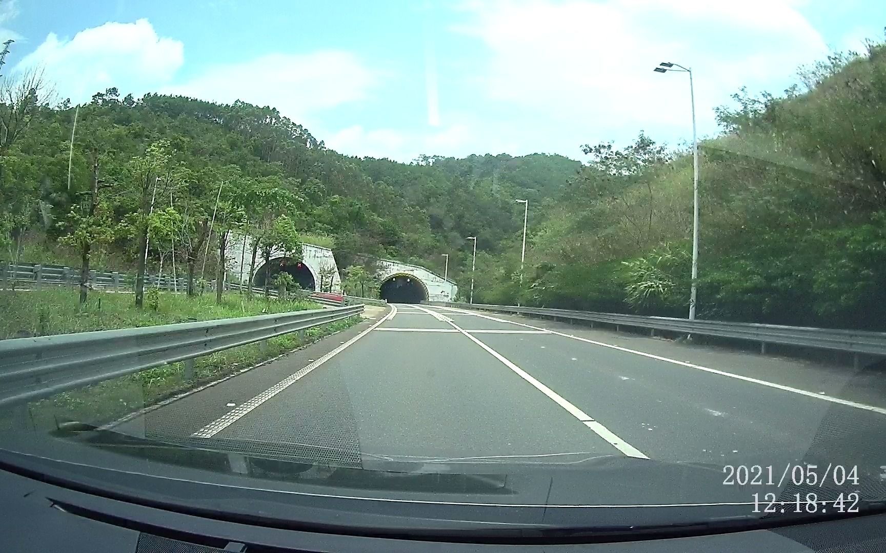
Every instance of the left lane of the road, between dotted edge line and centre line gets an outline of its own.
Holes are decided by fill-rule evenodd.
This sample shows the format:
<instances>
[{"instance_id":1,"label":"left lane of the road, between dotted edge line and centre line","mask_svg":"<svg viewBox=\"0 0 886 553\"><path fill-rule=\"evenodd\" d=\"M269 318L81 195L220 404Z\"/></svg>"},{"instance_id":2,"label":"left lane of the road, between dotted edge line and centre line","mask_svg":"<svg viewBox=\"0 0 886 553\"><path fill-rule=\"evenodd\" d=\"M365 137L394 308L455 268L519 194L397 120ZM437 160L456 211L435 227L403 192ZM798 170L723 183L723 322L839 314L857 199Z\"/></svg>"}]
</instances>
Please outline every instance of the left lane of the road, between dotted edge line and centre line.
<instances>
[{"instance_id":1,"label":"left lane of the road, between dotted edge line and centre line","mask_svg":"<svg viewBox=\"0 0 886 553\"><path fill-rule=\"evenodd\" d=\"M335 411L344 424L324 430L330 434L326 442L349 450L359 443L359 456L618 454L442 316L413 306L398 306L392 319L303 384L286 388L211 439L244 440L262 431L276 442L304 443L312 436L293 421L310 419L315 411L299 405L318 390L337 389L340 396L323 410ZM353 430L336 435L341 428Z\"/></svg>"}]
</instances>

